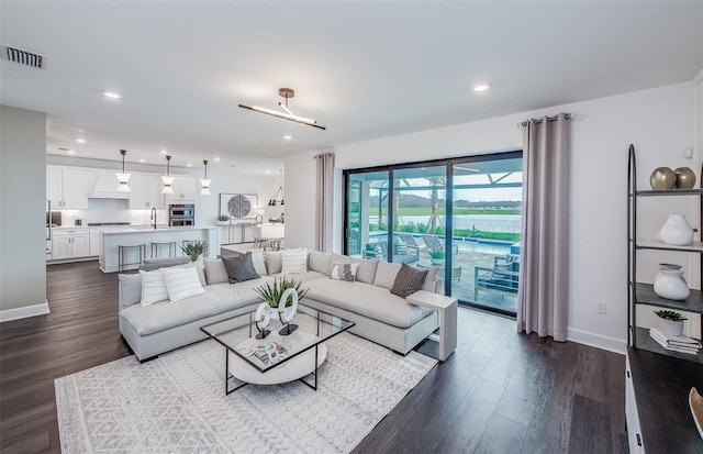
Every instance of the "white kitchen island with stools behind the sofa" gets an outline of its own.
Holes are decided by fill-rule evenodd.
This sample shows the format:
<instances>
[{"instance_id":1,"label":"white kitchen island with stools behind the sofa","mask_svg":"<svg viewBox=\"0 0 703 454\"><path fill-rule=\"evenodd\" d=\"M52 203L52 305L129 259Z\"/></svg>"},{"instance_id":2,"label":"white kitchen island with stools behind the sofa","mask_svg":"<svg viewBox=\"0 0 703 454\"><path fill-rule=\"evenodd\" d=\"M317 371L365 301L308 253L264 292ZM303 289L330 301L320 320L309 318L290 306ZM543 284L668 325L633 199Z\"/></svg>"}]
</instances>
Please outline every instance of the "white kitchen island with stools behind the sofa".
<instances>
[{"instance_id":1,"label":"white kitchen island with stools behind the sofa","mask_svg":"<svg viewBox=\"0 0 703 454\"><path fill-rule=\"evenodd\" d=\"M131 244L144 244L145 258L150 258L152 243L172 241L176 242L176 255L182 256L180 246L183 241L205 240L209 245L209 257L216 257L220 254L220 229L214 225L203 226L176 226L176 228L125 228L104 230L100 232L100 255L99 264L103 273L114 273L120 270L120 256L118 246ZM131 263L125 269L137 269L138 251L129 248L124 253L124 262Z\"/></svg>"}]
</instances>

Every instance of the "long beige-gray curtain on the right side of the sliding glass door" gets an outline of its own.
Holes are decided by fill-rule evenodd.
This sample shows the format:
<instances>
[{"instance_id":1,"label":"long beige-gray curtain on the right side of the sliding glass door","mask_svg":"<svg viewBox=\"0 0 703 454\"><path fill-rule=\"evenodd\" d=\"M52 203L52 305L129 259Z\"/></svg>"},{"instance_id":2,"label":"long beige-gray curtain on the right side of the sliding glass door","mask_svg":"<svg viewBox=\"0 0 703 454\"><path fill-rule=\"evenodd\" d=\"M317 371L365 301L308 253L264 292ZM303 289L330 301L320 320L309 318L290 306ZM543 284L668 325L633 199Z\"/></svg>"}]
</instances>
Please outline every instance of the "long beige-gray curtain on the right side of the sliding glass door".
<instances>
[{"instance_id":1,"label":"long beige-gray curtain on the right side of the sliding glass door","mask_svg":"<svg viewBox=\"0 0 703 454\"><path fill-rule=\"evenodd\" d=\"M569 115L523 123L523 230L517 331L567 340Z\"/></svg>"}]
</instances>

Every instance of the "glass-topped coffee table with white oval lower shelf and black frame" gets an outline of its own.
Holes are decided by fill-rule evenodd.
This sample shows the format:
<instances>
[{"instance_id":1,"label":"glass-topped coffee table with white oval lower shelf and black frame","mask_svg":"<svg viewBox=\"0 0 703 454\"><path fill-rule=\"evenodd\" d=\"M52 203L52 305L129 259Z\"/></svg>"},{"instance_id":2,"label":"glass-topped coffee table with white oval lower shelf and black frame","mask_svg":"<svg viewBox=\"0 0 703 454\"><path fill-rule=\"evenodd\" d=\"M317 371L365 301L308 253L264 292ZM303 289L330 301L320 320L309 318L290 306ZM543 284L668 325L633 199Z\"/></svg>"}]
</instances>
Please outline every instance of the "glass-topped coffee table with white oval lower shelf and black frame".
<instances>
[{"instance_id":1,"label":"glass-topped coffee table with white oval lower shelf and black frame","mask_svg":"<svg viewBox=\"0 0 703 454\"><path fill-rule=\"evenodd\" d=\"M225 347L225 394L246 385L278 385L300 380L317 390L317 368L327 357L325 341L354 326L350 320L304 306L298 307L298 330L278 333L279 321L271 320L271 333L256 339L256 310L201 326L200 330ZM304 378L313 375L313 383ZM238 385L231 387L231 381Z\"/></svg>"}]
</instances>

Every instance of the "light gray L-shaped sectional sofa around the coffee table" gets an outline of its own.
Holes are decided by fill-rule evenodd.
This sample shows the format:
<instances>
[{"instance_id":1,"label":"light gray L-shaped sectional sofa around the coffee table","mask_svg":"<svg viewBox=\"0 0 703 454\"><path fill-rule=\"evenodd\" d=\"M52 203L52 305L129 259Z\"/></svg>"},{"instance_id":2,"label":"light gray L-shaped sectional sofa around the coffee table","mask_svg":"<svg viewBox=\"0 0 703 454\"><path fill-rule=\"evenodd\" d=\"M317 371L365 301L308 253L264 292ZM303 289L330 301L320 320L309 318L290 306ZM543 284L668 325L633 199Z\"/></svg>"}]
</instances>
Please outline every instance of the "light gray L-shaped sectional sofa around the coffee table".
<instances>
[{"instance_id":1,"label":"light gray L-shaped sectional sofa around the coffee table","mask_svg":"<svg viewBox=\"0 0 703 454\"><path fill-rule=\"evenodd\" d=\"M256 309L261 301L254 289L284 276L302 280L308 288L302 303L356 322L350 332L398 353L406 354L438 328L435 311L390 292L398 264L310 251L305 272L283 274L282 251L255 254L260 254L258 263L254 261L260 278L228 284L221 261L205 259L201 276L205 291L176 302L142 306L140 275L120 275L120 332L137 358L145 361L205 339L200 326ZM357 263L357 280L332 279L335 263ZM442 289L436 268L423 289Z\"/></svg>"}]
</instances>

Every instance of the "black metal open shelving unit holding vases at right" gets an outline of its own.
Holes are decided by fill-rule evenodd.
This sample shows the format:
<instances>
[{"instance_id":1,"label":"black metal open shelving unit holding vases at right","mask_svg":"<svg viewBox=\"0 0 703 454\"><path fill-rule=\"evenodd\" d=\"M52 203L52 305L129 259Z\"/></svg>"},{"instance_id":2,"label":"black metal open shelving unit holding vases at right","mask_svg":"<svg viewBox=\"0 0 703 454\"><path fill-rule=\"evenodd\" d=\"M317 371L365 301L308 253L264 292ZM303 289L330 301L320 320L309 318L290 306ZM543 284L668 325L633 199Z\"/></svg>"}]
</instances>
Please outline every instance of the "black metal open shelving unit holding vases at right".
<instances>
[{"instance_id":1,"label":"black metal open shelving unit holding vases at right","mask_svg":"<svg viewBox=\"0 0 703 454\"><path fill-rule=\"evenodd\" d=\"M634 348L643 348L682 359L703 363L703 351L700 351L698 355L687 355L667 351L649 339L647 329L637 326L637 307L639 304L699 313L703 321L703 292L701 290L692 289L689 298L683 301L674 301L661 298L655 294L651 284L637 281L637 253L643 250L698 254L701 265L699 273L703 273L703 242L694 241L692 244L685 246L671 246L661 241L640 240L637 237L638 198L698 197L701 212L703 212L703 189L638 190L634 145L629 145L627 170L627 343ZM701 175L699 175L699 181ZM703 279L701 279L701 281L703 283Z\"/></svg>"}]
</instances>

